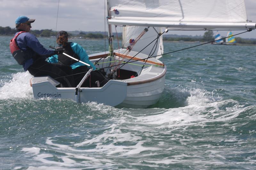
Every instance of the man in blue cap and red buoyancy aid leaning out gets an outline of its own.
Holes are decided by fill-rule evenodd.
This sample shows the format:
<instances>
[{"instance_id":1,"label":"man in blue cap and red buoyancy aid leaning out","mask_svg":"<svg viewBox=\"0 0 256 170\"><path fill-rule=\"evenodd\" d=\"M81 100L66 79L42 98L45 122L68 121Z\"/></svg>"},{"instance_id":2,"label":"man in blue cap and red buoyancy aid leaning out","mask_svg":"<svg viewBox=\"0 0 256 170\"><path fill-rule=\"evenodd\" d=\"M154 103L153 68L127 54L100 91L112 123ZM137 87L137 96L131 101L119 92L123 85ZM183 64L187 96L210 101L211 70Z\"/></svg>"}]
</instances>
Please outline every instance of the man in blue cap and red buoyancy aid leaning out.
<instances>
[{"instance_id":1,"label":"man in blue cap and red buoyancy aid leaning out","mask_svg":"<svg viewBox=\"0 0 256 170\"><path fill-rule=\"evenodd\" d=\"M73 72L70 66L45 61L49 56L62 54L63 50L44 48L36 36L29 33L33 22L35 19L29 19L23 15L15 20L17 33L10 43L13 57L25 71L28 70L33 76L50 76L64 87L74 87Z\"/></svg>"}]
</instances>

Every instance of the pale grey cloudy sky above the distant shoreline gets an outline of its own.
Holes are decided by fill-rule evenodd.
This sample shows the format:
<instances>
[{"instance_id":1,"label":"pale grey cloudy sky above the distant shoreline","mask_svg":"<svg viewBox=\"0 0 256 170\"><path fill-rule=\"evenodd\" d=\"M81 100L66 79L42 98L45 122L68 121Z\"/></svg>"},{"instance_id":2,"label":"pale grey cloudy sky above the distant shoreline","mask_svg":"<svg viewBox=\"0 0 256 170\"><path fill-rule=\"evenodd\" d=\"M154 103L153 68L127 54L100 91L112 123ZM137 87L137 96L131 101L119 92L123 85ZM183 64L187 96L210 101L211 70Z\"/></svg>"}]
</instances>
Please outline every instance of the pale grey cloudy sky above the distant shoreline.
<instances>
[{"instance_id":1,"label":"pale grey cloudy sky above the distant shoreline","mask_svg":"<svg viewBox=\"0 0 256 170\"><path fill-rule=\"evenodd\" d=\"M15 19L25 15L36 19L32 24L32 30L108 31L105 26L104 2L104 0L60 0L60 3L59 0L0 0L0 26L14 27ZM256 23L256 0L245 0L245 6L248 19ZM120 27L117 28L117 32L122 32ZM242 31L232 32L236 34ZM194 36L203 35L204 31L169 31L168 33ZM221 36L225 36L226 33L227 31L220 31ZM256 30L238 36L256 38Z\"/></svg>"}]
</instances>

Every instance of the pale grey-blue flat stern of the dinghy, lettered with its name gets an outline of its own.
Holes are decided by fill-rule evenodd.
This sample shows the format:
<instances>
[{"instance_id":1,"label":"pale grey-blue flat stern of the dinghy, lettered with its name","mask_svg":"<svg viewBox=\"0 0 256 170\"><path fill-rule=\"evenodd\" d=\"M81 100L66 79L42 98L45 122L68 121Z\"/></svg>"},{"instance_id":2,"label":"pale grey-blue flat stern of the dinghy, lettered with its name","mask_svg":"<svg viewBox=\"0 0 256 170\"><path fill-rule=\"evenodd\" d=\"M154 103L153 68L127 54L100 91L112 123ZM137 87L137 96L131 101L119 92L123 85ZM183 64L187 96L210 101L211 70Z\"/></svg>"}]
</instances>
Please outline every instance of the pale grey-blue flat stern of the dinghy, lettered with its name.
<instances>
[{"instance_id":1,"label":"pale grey-blue flat stern of the dinghy, lettered with its name","mask_svg":"<svg viewBox=\"0 0 256 170\"><path fill-rule=\"evenodd\" d=\"M34 98L53 98L53 99L71 99L75 100L76 88L57 88L52 78L35 77L32 78L32 89ZM37 81L37 82L36 82ZM118 89L118 93L113 93ZM110 106L117 106L126 97L127 83L117 80L110 80L106 85L100 88L81 87L80 102L87 103L95 101Z\"/></svg>"}]
</instances>

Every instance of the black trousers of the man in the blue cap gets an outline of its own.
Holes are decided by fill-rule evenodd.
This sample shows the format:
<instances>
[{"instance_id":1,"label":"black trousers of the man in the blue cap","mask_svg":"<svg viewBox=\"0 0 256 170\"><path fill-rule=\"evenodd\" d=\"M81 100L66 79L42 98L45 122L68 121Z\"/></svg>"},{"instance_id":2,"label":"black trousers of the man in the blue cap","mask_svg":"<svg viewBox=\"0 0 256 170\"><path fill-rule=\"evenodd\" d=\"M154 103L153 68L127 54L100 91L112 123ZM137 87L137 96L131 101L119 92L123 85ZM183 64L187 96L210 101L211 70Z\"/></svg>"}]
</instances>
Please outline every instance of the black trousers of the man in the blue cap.
<instances>
[{"instance_id":1,"label":"black trousers of the man in the blue cap","mask_svg":"<svg viewBox=\"0 0 256 170\"><path fill-rule=\"evenodd\" d=\"M29 68L28 71L33 76L50 76L63 87L75 87L73 71L68 65L48 63L44 60L36 60Z\"/></svg>"}]
</instances>

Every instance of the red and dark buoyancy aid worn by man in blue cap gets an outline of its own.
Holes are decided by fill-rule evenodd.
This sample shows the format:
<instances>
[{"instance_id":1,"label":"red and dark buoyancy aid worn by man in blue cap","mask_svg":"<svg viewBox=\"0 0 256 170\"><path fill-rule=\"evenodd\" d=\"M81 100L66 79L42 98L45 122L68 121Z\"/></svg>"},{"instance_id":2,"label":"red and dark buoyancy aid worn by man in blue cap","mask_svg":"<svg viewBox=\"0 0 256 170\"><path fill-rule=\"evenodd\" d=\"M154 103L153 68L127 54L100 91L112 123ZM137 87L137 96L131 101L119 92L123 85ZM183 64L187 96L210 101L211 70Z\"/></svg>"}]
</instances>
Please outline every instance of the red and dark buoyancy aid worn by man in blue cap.
<instances>
[{"instance_id":1,"label":"red and dark buoyancy aid worn by man in blue cap","mask_svg":"<svg viewBox=\"0 0 256 170\"><path fill-rule=\"evenodd\" d=\"M17 33L13 39L10 41L10 50L12 53L12 56L14 57L14 59L20 64L22 65L26 60L30 59L31 56L28 55L25 51L22 51L18 44L17 44L17 37L21 34L21 33L26 33L26 31L20 31L19 33Z\"/></svg>"}]
</instances>

